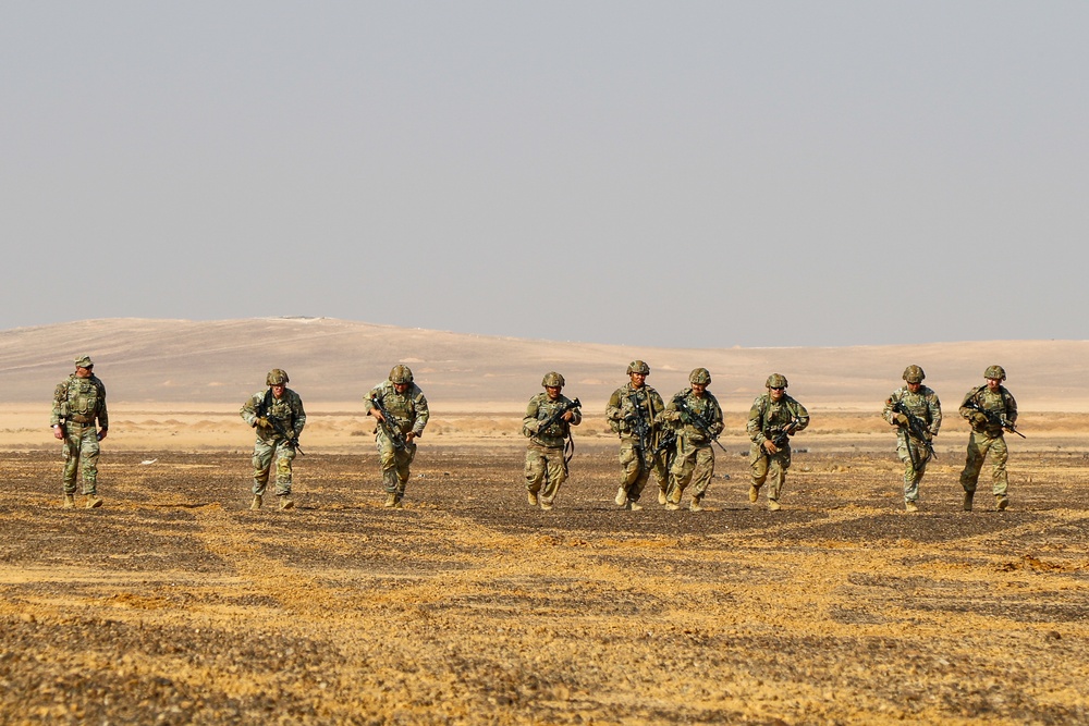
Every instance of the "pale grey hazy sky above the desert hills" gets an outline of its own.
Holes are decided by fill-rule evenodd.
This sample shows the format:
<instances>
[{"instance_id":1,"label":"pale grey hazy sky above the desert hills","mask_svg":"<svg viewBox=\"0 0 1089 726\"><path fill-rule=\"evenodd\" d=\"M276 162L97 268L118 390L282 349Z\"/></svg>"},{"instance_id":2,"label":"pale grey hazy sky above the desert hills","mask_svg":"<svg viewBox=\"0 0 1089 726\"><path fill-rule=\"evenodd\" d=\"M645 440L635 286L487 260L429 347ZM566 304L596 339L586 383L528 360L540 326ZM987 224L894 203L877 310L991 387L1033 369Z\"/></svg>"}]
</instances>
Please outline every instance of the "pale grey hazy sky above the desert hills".
<instances>
[{"instance_id":1,"label":"pale grey hazy sky above the desert hills","mask_svg":"<svg viewBox=\"0 0 1089 726\"><path fill-rule=\"evenodd\" d=\"M0 328L1087 337L1089 3L0 4Z\"/></svg>"}]
</instances>

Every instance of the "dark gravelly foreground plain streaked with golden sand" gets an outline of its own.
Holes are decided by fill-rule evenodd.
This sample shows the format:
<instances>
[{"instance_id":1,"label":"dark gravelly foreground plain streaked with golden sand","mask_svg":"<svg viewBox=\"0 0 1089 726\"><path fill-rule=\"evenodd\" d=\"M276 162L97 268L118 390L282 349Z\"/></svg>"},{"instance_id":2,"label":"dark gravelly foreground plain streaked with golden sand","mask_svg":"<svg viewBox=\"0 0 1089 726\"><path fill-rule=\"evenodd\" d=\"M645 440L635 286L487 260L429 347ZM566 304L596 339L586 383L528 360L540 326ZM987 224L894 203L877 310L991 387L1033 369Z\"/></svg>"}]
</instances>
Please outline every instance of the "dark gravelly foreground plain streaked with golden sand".
<instances>
[{"instance_id":1,"label":"dark gravelly foreground plain streaked with golden sand","mask_svg":"<svg viewBox=\"0 0 1089 726\"><path fill-rule=\"evenodd\" d=\"M971 514L943 456L919 515L891 452L796 455L775 514L721 452L699 514L619 510L612 446L551 513L516 446L421 446L399 512L370 454L303 457L289 513L246 453L140 460L62 510L56 453L3 455L0 722L1089 722L1080 453Z\"/></svg>"}]
</instances>

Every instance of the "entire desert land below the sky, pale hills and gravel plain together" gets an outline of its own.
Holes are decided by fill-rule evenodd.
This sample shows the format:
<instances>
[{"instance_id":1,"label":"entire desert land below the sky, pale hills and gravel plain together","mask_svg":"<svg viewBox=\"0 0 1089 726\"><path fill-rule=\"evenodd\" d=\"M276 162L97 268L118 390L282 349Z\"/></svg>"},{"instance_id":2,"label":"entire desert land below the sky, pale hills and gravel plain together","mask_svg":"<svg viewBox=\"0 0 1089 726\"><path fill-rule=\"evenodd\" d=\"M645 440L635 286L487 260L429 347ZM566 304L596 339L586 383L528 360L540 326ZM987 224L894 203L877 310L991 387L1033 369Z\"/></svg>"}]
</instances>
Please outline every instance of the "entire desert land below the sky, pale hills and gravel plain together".
<instances>
[{"instance_id":1,"label":"entire desert land below the sky, pale hills and gravel plain together","mask_svg":"<svg viewBox=\"0 0 1089 726\"><path fill-rule=\"evenodd\" d=\"M73 341L76 343L74 344ZM99 509L60 508L53 385L110 394ZM700 513L620 509L602 417L627 361L726 411ZM329 319L91 320L0 331L0 723L1089 723L1089 342L639 349ZM407 362L431 402L404 509L381 507L362 395ZM878 416L908 362L946 422L903 512ZM1020 403L1011 508L957 476L960 396ZM242 402L283 367L307 406L289 512L248 510ZM525 402L586 419L528 506ZM784 509L747 497L745 414L791 379L812 424Z\"/></svg>"}]
</instances>

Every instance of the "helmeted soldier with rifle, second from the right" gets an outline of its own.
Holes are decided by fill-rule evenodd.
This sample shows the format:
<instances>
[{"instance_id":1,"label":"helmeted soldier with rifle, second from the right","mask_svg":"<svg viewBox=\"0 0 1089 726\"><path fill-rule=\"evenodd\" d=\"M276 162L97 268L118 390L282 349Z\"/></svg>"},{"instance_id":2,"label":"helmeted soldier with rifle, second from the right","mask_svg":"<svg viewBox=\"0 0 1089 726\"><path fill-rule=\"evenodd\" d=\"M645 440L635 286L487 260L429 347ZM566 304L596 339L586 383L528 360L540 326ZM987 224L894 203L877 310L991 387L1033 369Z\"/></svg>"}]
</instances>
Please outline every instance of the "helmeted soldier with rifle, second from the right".
<instances>
[{"instance_id":1,"label":"helmeted soldier with rifle, second from the right","mask_svg":"<svg viewBox=\"0 0 1089 726\"><path fill-rule=\"evenodd\" d=\"M934 455L930 442L942 428L942 403L933 389L922 385L926 377L918 366L905 368L906 385L892 392L881 414L896 427L896 453L904 463L904 508L908 512L919 510L919 482Z\"/></svg>"}]
</instances>

